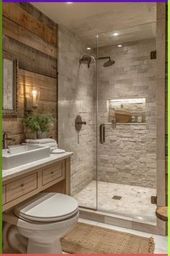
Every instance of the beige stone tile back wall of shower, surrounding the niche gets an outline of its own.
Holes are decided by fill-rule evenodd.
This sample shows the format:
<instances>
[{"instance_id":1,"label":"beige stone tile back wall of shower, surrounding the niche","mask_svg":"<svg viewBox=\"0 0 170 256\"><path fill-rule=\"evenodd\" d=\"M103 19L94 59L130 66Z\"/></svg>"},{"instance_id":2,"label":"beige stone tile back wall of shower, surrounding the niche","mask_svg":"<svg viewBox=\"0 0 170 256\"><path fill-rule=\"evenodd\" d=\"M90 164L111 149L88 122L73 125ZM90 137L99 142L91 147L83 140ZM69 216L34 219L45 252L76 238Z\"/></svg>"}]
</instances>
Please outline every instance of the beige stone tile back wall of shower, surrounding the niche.
<instances>
[{"instance_id":1,"label":"beige stone tile back wall of shower, surrounding the niche","mask_svg":"<svg viewBox=\"0 0 170 256\"><path fill-rule=\"evenodd\" d=\"M108 100L146 98L146 124L107 125L106 141L98 150L99 181L156 187L156 59L150 58L154 50L155 38L99 48L99 56L115 60L107 68L99 60L99 123L109 121Z\"/></svg>"}]
</instances>

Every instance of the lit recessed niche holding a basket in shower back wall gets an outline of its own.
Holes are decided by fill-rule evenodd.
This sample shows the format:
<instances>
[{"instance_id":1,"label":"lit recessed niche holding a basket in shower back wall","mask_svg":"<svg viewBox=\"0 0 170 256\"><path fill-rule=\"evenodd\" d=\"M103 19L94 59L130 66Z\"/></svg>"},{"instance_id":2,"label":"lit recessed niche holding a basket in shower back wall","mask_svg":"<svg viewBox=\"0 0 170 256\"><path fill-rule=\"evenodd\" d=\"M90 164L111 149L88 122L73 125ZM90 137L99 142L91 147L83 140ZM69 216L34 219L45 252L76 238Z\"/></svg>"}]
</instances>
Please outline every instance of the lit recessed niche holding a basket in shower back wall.
<instances>
[{"instance_id":1,"label":"lit recessed niche holding a basket in shower back wall","mask_svg":"<svg viewBox=\"0 0 170 256\"><path fill-rule=\"evenodd\" d=\"M146 98L122 98L108 101L108 122L117 124L145 124Z\"/></svg>"}]
</instances>

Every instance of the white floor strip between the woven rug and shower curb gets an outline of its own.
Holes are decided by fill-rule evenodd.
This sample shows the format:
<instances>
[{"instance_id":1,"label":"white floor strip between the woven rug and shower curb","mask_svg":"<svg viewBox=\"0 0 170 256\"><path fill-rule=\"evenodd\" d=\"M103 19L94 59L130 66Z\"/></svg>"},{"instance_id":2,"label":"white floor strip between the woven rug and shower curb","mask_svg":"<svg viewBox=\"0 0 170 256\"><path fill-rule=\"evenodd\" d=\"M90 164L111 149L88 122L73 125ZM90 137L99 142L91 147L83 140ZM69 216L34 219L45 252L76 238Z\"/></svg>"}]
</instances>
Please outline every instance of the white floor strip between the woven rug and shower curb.
<instances>
[{"instance_id":1,"label":"white floor strip between the woven rug and shower curb","mask_svg":"<svg viewBox=\"0 0 170 256\"><path fill-rule=\"evenodd\" d=\"M140 231L135 231L135 230L131 230L131 229L123 229L117 226L112 226L112 225L108 225L108 224L104 224L104 223L99 223L96 221L89 221L89 220L85 220L83 218L79 218L80 222L84 222L84 223L89 223L91 225L97 225L97 226L102 226L104 228L107 229L114 229L117 231L122 231L122 232L128 232L130 234L136 234L138 236L144 236L144 237L153 237L154 242L155 242L155 252L154 254L167 254L168 253L168 239L167 236L157 236L154 234L148 234L148 233L144 233L144 232L140 232Z\"/></svg>"}]
</instances>

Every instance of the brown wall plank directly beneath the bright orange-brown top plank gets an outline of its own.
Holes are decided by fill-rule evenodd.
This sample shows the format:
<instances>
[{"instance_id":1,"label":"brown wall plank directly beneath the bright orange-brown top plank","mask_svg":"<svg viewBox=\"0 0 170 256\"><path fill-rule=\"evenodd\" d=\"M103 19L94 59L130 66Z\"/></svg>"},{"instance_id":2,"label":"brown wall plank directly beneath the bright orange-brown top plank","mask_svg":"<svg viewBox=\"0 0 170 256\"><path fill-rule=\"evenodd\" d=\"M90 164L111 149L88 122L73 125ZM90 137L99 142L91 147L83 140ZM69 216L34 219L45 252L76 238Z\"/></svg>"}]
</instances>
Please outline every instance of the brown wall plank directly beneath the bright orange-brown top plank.
<instances>
[{"instance_id":1,"label":"brown wall plank directly beneath the bright orange-brown top plank","mask_svg":"<svg viewBox=\"0 0 170 256\"><path fill-rule=\"evenodd\" d=\"M17 23L6 19L6 17L3 17L3 33L27 46L42 51L44 54L57 58L57 48L55 46L46 43L45 40L42 40L39 36L17 25Z\"/></svg>"}]
</instances>

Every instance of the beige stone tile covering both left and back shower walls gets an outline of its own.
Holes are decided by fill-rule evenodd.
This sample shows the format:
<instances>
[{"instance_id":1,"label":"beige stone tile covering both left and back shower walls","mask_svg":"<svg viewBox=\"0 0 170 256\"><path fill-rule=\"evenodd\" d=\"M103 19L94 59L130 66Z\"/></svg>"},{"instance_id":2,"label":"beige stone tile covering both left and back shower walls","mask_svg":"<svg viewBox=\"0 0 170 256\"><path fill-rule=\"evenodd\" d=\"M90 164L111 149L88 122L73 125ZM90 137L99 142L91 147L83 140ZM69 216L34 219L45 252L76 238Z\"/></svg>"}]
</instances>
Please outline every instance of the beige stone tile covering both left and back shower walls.
<instances>
[{"instance_id":1,"label":"beige stone tile covering both left and back shower walls","mask_svg":"<svg viewBox=\"0 0 170 256\"><path fill-rule=\"evenodd\" d=\"M96 84L95 65L79 64L86 46L73 33L58 29L58 144L73 151L71 195L96 178ZM100 56L111 55L112 67L99 62L99 124L108 122L108 100L146 98L144 125L106 127L106 142L98 148L99 180L142 187L156 186L156 60L150 52L155 39L127 43L122 48L99 48ZM86 126L76 132L74 121L81 115Z\"/></svg>"}]
</instances>

